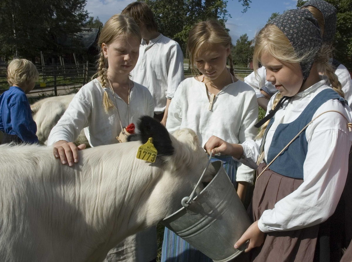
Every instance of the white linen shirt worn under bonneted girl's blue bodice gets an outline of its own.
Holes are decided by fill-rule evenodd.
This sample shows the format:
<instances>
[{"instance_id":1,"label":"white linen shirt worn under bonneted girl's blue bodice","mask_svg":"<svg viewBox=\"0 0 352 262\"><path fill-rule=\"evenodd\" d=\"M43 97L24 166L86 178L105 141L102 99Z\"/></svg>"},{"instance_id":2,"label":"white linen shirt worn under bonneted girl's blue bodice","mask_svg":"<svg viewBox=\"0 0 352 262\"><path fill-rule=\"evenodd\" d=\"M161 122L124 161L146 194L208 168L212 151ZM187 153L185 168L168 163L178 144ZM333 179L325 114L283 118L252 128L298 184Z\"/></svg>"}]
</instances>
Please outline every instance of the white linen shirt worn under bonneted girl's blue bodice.
<instances>
[{"instance_id":1,"label":"white linen shirt worn under bonneted girl's blue bodice","mask_svg":"<svg viewBox=\"0 0 352 262\"><path fill-rule=\"evenodd\" d=\"M293 96L276 112L264 144L265 159L271 143L275 143L272 138L277 126L290 123L300 116L319 92L331 88L326 83L327 77L321 76L320 82ZM268 112L274 99L275 95L269 101ZM328 110L337 110L344 114L348 122L352 122L351 109L338 100L328 100L322 104L313 118ZM262 232L313 226L324 222L335 211L346 182L352 132L349 132L344 117L336 112L328 112L307 127L306 138L308 152L303 164L304 182L293 193L278 201L272 210L263 212L258 221ZM257 161L261 142L250 140L242 144L244 155L249 158L247 160Z\"/></svg>"}]
</instances>

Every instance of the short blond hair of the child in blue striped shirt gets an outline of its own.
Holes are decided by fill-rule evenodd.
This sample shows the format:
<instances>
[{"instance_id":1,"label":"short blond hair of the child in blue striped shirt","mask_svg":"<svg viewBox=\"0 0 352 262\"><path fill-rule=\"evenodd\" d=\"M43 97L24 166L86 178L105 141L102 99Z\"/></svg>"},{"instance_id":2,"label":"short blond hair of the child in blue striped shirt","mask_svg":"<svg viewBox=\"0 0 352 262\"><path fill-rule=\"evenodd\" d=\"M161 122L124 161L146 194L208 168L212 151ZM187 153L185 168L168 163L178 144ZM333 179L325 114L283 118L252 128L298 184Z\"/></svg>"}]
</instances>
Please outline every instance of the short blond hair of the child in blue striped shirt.
<instances>
[{"instance_id":1,"label":"short blond hair of the child in blue striped shirt","mask_svg":"<svg viewBox=\"0 0 352 262\"><path fill-rule=\"evenodd\" d=\"M7 66L7 82L9 85L28 87L38 80L39 73L31 61L14 58Z\"/></svg>"}]
</instances>

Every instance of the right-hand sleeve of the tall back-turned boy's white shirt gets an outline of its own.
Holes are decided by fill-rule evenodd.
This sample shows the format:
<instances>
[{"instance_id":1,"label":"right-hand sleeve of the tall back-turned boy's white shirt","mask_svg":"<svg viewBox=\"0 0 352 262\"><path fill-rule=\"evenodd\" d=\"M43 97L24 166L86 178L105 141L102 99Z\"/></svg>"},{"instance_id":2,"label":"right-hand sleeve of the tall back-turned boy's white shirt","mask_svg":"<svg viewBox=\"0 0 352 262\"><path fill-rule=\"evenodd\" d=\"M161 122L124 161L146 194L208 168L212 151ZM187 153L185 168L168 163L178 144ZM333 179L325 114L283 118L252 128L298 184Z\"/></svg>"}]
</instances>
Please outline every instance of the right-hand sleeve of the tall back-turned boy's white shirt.
<instances>
[{"instance_id":1,"label":"right-hand sleeve of the tall back-turned boy's white shirt","mask_svg":"<svg viewBox=\"0 0 352 262\"><path fill-rule=\"evenodd\" d=\"M165 96L168 99L172 99L174 97L178 85L184 79L183 53L180 48L180 45L175 44L175 46L173 46L170 51L170 57L168 58L166 66L168 70L168 88L165 92Z\"/></svg>"}]
</instances>

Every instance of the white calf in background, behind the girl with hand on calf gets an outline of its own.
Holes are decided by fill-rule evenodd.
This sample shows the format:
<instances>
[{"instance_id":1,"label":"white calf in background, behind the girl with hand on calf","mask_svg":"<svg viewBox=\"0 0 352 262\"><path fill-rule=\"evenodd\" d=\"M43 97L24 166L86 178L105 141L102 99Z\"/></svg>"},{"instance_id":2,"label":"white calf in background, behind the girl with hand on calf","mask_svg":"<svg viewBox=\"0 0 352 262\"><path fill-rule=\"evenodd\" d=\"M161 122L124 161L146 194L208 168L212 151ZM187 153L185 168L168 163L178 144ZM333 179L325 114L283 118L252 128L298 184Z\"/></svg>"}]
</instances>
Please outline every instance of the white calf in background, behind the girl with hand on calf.
<instances>
[{"instance_id":1,"label":"white calf in background, behind the girl with hand on calf","mask_svg":"<svg viewBox=\"0 0 352 262\"><path fill-rule=\"evenodd\" d=\"M31 105L32 117L37 124L37 137L40 143L46 144L51 129L67 110L74 96L75 94L52 96ZM75 143L89 145L84 130L81 131Z\"/></svg>"}]
</instances>

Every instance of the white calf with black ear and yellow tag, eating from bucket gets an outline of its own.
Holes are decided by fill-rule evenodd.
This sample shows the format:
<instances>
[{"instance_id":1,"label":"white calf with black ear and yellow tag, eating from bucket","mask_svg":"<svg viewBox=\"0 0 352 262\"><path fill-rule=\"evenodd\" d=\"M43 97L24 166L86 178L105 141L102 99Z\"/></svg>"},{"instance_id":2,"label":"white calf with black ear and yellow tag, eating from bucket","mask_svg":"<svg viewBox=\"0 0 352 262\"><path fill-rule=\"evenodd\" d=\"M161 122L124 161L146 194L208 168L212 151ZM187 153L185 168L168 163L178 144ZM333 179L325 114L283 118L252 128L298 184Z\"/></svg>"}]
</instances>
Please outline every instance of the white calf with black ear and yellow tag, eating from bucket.
<instances>
[{"instance_id":1,"label":"white calf with black ear and yellow tag, eating from bucket","mask_svg":"<svg viewBox=\"0 0 352 262\"><path fill-rule=\"evenodd\" d=\"M170 136L143 117L140 141L80 151L73 167L52 148L0 146L0 257L4 262L102 261L126 236L181 207L207 163L196 134ZM154 139L155 163L136 158ZM215 170L210 166L205 181ZM201 188L200 188L201 189Z\"/></svg>"}]
</instances>

